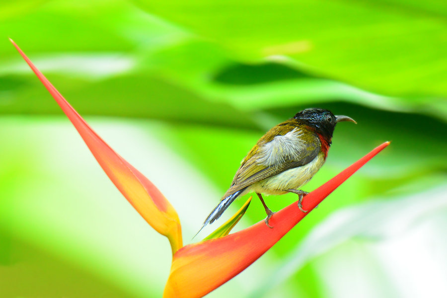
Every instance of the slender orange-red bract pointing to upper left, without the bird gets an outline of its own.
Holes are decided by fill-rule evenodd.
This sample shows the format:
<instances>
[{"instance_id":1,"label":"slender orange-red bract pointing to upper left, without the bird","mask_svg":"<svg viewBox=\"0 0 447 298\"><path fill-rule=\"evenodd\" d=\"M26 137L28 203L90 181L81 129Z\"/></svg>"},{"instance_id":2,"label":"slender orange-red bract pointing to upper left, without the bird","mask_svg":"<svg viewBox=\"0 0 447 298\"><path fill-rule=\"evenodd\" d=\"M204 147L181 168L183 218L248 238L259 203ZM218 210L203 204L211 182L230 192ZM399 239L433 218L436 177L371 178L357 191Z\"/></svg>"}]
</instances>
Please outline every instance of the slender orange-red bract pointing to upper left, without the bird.
<instances>
[{"instance_id":1,"label":"slender orange-red bract pointing to upper left, without the bird","mask_svg":"<svg viewBox=\"0 0 447 298\"><path fill-rule=\"evenodd\" d=\"M168 237L172 253L175 253L183 244L180 220L172 205L148 178L118 155L90 128L22 50L11 39L10 41L73 123L110 180L157 232Z\"/></svg>"}]
</instances>

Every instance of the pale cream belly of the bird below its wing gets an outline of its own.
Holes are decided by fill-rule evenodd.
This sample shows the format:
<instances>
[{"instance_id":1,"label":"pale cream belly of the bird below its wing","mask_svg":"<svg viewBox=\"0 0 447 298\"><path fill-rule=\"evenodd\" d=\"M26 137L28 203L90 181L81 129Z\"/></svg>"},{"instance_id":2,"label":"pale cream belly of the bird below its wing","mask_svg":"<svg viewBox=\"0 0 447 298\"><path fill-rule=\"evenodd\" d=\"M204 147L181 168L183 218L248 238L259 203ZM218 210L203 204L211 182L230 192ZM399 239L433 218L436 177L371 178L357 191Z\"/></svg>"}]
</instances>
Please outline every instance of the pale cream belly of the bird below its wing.
<instances>
[{"instance_id":1,"label":"pale cream belly of the bird below its wing","mask_svg":"<svg viewBox=\"0 0 447 298\"><path fill-rule=\"evenodd\" d=\"M249 191L263 193L267 195L281 195L287 193L287 189L297 189L301 187L320 169L325 159L323 154L306 165L286 170L275 176L266 178L254 183Z\"/></svg>"}]
</instances>

